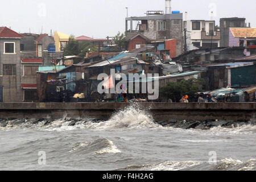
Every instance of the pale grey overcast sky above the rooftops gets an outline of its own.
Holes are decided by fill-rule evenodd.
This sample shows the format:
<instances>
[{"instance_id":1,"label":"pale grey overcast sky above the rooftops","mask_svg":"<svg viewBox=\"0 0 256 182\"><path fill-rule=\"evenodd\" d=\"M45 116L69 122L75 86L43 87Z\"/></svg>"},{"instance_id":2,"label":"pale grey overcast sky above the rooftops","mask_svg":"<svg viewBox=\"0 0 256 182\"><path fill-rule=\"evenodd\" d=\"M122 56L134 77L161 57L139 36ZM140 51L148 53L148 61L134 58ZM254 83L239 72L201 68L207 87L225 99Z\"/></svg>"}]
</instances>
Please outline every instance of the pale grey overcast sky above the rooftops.
<instances>
[{"instance_id":1,"label":"pale grey overcast sky above the rooftops","mask_svg":"<svg viewBox=\"0 0 256 182\"><path fill-rule=\"evenodd\" d=\"M1 2L0 26L23 33L49 34L60 31L68 35L93 38L114 36L125 31L126 9L129 16L143 16L147 10L164 10L164 0L9 0ZM188 19L214 20L238 16L256 27L255 0L172 0L172 10L188 12Z\"/></svg>"}]
</instances>

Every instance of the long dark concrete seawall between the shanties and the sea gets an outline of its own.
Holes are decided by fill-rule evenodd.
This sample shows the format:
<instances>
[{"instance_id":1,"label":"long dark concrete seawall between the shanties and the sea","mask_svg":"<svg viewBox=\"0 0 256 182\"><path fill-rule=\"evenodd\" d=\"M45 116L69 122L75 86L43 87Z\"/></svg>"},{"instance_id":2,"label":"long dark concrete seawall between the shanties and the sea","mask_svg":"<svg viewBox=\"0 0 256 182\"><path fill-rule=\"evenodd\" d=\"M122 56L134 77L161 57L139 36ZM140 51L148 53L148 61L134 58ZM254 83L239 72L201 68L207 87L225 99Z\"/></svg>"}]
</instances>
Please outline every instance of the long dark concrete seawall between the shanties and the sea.
<instances>
[{"instance_id":1,"label":"long dark concrete seawall between the shanties and the sea","mask_svg":"<svg viewBox=\"0 0 256 182\"><path fill-rule=\"evenodd\" d=\"M109 118L130 103L0 103L0 118ZM249 120L256 116L256 103L138 103L156 121L165 119Z\"/></svg>"}]
</instances>

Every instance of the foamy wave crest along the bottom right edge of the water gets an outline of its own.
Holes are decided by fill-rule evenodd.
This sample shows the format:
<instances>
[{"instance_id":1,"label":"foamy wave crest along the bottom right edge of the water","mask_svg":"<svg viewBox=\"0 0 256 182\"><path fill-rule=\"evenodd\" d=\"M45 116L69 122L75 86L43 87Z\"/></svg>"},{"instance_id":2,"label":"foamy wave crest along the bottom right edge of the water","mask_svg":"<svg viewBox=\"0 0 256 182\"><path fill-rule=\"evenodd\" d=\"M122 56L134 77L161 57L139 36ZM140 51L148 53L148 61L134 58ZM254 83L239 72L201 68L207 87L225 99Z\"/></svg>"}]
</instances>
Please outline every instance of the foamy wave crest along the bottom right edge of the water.
<instances>
[{"instance_id":1,"label":"foamy wave crest along the bottom right edge of the water","mask_svg":"<svg viewBox=\"0 0 256 182\"><path fill-rule=\"evenodd\" d=\"M124 171L255 171L256 170L256 159L250 159L246 162L240 160L234 160L226 158L218 160L216 164L210 164L209 162L203 161L181 161L181 162L170 162L166 161L158 164L147 164L147 165L132 165L125 168L116 169Z\"/></svg>"}]
</instances>

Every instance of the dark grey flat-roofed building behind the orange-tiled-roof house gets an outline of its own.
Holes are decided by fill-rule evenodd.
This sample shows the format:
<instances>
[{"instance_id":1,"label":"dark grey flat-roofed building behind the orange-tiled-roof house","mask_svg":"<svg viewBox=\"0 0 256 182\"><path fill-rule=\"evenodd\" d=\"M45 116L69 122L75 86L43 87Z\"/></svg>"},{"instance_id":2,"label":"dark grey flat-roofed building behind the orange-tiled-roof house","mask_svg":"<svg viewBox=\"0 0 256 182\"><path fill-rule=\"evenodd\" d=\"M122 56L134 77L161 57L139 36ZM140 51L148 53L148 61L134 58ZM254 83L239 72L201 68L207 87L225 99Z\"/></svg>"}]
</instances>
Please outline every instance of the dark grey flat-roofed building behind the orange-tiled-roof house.
<instances>
[{"instance_id":1,"label":"dark grey flat-roofed building behind the orange-tiled-roof house","mask_svg":"<svg viewBox=\"0 0 256 182\"><path fill-rule=\"evenodd\" d=\"M245 18L221 18L220 30L221 30L221 47L229 47L229 28L241 28L246 27ZM249 25L250 27L250 25Z\"/></svg>"}]
</instances>

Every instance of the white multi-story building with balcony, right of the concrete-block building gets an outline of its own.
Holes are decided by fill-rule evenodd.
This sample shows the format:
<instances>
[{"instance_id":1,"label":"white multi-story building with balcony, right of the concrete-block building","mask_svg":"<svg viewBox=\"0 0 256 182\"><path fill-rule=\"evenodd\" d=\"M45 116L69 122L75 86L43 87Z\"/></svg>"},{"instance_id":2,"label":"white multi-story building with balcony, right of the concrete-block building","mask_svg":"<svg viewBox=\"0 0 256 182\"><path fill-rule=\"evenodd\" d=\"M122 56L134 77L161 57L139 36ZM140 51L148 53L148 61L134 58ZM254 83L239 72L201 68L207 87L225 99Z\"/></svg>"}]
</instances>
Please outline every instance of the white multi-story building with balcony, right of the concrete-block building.
<instances>
[{"instance_id":1,"label":"white multi-story building with balcony, right of the concrete-block building","mask_svg":"<svg viewBox=\"0 0 256 182\"><path fill-rule=\"evenodd\" d=\"M184 29L187 51L197 48L220 47L220 31L215 30L214 20L185 20Z\"/></svg>"}]
</instances>

